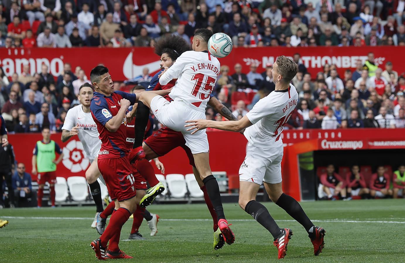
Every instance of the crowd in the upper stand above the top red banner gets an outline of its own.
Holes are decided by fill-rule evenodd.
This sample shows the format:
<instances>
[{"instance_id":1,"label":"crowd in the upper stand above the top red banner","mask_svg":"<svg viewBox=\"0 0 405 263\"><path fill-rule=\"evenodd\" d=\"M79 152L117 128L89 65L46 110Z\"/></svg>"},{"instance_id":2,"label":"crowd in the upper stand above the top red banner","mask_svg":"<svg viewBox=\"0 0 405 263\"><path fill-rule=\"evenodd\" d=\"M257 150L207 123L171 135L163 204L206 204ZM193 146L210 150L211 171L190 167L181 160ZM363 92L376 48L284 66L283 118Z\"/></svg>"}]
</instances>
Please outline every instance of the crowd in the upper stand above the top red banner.
<instances>
[{"instance_id":1,"label":"crowd in the upper stand above the top red banner","mask_svg":"<svg viewBox=\"0 0 405 263\"><path fill-rule=\"evenodd\" d=\"M4 2L4 3L3 3ZM3 0L0 46L152 46L205 27L235 46L405 45L404 0Z\"/></svg>"}]
</instances>

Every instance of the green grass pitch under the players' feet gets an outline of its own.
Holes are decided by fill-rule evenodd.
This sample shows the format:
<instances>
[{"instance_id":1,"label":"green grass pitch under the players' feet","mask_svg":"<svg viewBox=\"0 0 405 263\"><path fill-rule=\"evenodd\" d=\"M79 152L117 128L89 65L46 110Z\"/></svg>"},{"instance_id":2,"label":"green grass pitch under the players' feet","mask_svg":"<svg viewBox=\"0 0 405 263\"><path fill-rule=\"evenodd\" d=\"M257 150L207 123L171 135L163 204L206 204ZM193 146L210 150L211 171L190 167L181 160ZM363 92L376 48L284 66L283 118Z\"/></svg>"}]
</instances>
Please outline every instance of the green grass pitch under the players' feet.
<instances>
[{"instance_id":1,"label":"green grass pitch under the players' feet","mask_svg":"<svg viewBox=\"0 0 405 263\"><path fill-rule=\"evenodd\" d=\"M404 200L301 203L313 223L326 230L325 248L318 257L301 225L275 204L265 205L280 227L294 233L285 262L405 262ZM237 204L224 204L224 209L236 241L221 250L213 250L212 221L205 204L149 206L161 218L158 234L149 236L143 221L140 233L147 240L121 241L120 248L140 263L278 261L266 229ZM93 206L0 210L0 219L10 221L0 229L0 262L95 262L90 248L98 238L90 228L94 213ZM131 225L132 219L122 229L122 240L128 238Z\"/></svg>"}]
</instances>

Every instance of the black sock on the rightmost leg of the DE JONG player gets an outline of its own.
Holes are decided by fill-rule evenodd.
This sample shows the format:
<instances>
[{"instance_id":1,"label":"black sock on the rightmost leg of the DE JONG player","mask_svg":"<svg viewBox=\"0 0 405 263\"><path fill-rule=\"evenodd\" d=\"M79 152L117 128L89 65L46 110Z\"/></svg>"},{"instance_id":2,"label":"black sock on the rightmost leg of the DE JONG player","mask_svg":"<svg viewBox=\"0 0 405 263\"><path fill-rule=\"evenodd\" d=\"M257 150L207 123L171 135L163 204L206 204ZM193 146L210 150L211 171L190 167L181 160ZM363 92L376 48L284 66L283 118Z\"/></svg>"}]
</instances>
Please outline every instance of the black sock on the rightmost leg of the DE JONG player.
<instances>
[{"instance_id":1,"label":"black sock on the rightmost leg of the DE JONG player","mask_svg":"<svg viewBox=\"0 0 405 263\"><path fill-rule=\"evenodd\" d=\"M314 224L309 220L307 215L305 214L303 208L300 206L300 204L291 196L288 196L286 194L281 194L279 200L277 200L276 204L286 210L288 215L290 215L292 218L294 218L298 223L303 225L305 230L307 232L311 227L314 226Z\"/></svg>"}]
</instances>

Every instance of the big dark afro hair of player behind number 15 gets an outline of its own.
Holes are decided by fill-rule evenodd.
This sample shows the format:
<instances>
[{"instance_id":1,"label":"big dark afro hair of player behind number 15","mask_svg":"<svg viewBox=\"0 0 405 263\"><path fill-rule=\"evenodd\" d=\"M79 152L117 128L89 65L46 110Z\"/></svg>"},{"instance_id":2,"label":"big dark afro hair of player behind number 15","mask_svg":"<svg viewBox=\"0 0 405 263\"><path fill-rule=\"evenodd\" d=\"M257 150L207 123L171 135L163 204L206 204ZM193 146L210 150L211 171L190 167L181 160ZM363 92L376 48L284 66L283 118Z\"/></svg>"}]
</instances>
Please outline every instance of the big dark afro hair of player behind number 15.
<instances>
[{"instance_id":1,"label":"big dark afro hair of player behind number 15","mask_svg":"<svg viewBox=\"0 0 405 263\"><path fill-rule=\"evenodd\" d=\"M162 56L166 53L173 61L188 50L191 50L190 44L184 38L175 35L164 36L155 44L156 55Z\"/></svg>"}]
</instances>

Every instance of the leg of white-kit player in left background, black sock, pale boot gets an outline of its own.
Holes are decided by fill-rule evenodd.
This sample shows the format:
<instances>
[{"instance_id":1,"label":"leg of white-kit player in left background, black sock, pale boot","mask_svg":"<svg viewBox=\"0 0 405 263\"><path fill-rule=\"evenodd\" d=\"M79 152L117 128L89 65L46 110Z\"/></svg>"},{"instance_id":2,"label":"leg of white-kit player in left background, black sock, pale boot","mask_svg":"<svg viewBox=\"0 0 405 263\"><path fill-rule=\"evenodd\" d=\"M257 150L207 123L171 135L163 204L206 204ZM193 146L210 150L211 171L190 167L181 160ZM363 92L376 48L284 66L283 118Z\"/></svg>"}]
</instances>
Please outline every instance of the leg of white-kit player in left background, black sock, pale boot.
<instances>
[{"instance_id":1,"label":"leg of white-kit player in left background, black sock, pale boot","mask_svg":"<svg viewBox=\"0 0 405 263\"><path fill-rule=\"evenodd\" d=\"M98 170L97 166L97 159L95 159L90 164L90 167L86 170L85 176L87 183L89 184L90 187L90 193L92 194L94 204L96 204L96 215L91 225L92 228L96 228L97 217L104 210L102 206L101 187L100 183L98 183L97 181L98 177L100 177L100 171Z\"/></svg>"}]
</instances>

